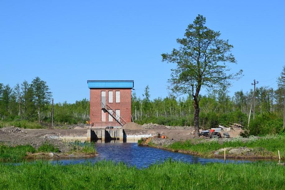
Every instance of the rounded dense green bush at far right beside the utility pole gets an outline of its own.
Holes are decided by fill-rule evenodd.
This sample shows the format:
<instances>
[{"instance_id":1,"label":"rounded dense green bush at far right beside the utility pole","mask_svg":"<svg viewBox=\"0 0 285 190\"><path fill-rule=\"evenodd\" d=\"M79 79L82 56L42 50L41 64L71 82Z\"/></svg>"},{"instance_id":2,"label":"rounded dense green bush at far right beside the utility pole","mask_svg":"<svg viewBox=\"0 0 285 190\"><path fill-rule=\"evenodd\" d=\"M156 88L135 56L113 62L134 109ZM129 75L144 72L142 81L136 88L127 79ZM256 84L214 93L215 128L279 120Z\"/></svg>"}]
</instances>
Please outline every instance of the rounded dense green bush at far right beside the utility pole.
<instances>
[{"instance_id":1,"label":"rounded dense green bush at far right beside the utility pole","mask_svg":"<svg viewBox=\"0 0 285 190\"><path fill-rule=\"evenodd\" d=\"M274 113L262 113L251 120L249 135L267 135L280 133L283 130L283 119Z\"/></svg>"}]
</instances>

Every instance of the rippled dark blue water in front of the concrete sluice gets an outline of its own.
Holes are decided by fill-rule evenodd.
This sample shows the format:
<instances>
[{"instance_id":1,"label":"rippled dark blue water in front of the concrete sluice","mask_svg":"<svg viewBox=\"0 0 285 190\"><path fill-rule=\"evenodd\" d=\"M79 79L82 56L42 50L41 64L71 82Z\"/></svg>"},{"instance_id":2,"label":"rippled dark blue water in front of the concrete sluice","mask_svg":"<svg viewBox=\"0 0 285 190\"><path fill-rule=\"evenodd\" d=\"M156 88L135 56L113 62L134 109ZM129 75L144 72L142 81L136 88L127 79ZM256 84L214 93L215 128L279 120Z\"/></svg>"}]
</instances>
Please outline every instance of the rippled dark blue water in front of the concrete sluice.
<instances>
[{"instance_id":1,"label":"rippled dark blue water in front of the concrete sluice","mask_svg":"<svg viewBox=\"0 0 285 190\"><path fill-rule=\"evenodd\" d=\"M92 158L69 158L53 160L53 163L62 164L76 164L84 163L86 161L96 162L99 160L111 160L115 162L123 161L128 165L136 166L138 168L148 167L157 161L164 161L171 158L175 161L184 161L188 163L201 163L208 162L224 162L223 159L217 158L201 158L190 154L183 154L178 152L166 151L158 148L151 148L145 146L138 146L137 142L132 143L116 143L114 141L109 143L96 143L96 149L99 156ZM241 160L226 160L226 162L240 163ZM247 161L246 161L247 162Z\"/></svg>"}]
</instances>

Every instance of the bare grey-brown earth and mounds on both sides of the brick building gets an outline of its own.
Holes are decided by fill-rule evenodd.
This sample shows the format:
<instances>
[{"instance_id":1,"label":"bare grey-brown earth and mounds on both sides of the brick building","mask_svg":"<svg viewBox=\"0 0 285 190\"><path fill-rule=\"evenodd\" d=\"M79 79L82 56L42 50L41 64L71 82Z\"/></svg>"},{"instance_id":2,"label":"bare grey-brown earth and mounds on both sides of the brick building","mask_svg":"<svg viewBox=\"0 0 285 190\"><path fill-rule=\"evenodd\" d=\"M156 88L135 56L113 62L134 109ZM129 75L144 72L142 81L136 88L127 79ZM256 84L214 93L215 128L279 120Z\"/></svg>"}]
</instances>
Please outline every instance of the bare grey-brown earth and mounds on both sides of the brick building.
<instances>
[{"instance_id":1,"label":"bare grey-brown earth and mounds on both sides of the brick building","mask_svg":"<svg viewBox=\"0 0 285 190\"><path fill-rule=\"evenodd\" d=\"M11 146L30 144L38 148L45 141L49 141L57 145L62 152L68 151L69 144L61 140L50 139L49 136L82 136L86 137L87 126L81 124L72 126L69 129L22 129L16 127L0 128L0 143L9 144ZM152 136L166 136L171 141L179 141L186 139L193 139L193 127L189 126L163 126L157 124L144 124L139 125L136 123L127 123L122 127L126 135L143 135L152 134ZM237 129L236 129L237 130ZM239 131L227 131L231 137L239 135ZM223 134L223 132L222 132ZM203 137L201 137L203 138Z\"/></svg>"}]
</instances>

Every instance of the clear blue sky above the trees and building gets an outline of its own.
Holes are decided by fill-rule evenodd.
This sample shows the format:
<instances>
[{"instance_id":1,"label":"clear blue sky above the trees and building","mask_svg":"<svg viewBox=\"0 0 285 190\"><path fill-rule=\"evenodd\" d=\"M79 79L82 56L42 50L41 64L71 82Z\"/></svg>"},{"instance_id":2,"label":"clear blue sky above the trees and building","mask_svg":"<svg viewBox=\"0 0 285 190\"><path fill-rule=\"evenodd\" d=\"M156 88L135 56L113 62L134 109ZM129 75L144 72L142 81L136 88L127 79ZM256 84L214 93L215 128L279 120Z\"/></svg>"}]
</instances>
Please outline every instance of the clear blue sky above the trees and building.
<instances>
[{"instance_id":1,"label":"clear blue sky above the trees and building","mask_svg":"<svg viewBox=\"0 0 285 190\"><path fill-rule=\"evenodd\" d=\"M161 54L177 47L198 14L234 46L244 77L274 83L285 64L283 1L0 1L0 83L36 76L55 102L89 99L87 80L134 80L136 94L166 97L171 64ZM273 79L272 79L273 78ZM269 80L271 79L271 80ZM268 81L267 81L268 80Z\"/></svg>"}]
</instances>

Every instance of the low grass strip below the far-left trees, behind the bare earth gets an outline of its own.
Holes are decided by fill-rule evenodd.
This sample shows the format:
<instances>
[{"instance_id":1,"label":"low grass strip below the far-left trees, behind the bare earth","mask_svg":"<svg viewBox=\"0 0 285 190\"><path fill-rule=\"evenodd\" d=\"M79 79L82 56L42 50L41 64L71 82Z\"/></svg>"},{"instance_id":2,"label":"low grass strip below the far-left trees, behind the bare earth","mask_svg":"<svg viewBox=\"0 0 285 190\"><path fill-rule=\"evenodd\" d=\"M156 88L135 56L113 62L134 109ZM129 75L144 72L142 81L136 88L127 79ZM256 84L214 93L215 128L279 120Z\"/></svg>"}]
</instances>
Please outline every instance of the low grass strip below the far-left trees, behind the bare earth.
<instances>
[{"instance_id":1,"label":"low grass strip below the far-left trees, behind the bare earth","mask_svg":"<svg viewBox=\"0 0 285 190\"><path fill-rule=\"evenodd\" d=\"M10 127L10 126L20 127L20 128L24 128L24 129L42 129L42 128L44 128L38 122L29 122L26 120L12 121L12 122L0 121L0 128Z\"/></svg>"}]
</instances>

